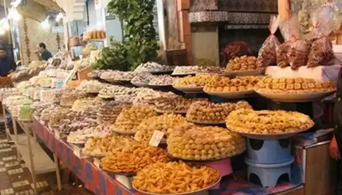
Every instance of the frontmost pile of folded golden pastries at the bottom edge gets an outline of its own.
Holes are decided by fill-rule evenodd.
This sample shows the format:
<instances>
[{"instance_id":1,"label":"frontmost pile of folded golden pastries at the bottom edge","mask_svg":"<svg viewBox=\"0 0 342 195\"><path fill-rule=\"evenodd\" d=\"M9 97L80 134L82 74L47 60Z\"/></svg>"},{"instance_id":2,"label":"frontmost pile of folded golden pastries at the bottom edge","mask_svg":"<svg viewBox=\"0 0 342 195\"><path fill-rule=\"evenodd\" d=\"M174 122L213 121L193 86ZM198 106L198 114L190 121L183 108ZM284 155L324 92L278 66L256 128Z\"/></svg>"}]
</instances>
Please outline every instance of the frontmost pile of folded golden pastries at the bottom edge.
<instances>
[{"instance_id":1,"label":"frontmost pile of folded golden pastries at the bottom edge","mask_svg":"<svg viewBox=\"0 0 342 195\"><path fill-rule=\"evenodd\" d=\"M212 186L220 177L211 167L191 167L184 162L155 163L138 172L132 184L147 193L178 194Z\"/></svg>"}]
</instances>

